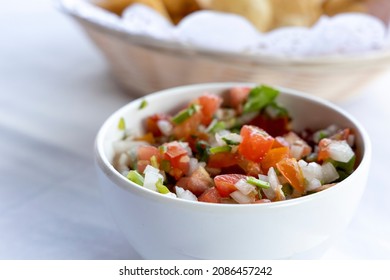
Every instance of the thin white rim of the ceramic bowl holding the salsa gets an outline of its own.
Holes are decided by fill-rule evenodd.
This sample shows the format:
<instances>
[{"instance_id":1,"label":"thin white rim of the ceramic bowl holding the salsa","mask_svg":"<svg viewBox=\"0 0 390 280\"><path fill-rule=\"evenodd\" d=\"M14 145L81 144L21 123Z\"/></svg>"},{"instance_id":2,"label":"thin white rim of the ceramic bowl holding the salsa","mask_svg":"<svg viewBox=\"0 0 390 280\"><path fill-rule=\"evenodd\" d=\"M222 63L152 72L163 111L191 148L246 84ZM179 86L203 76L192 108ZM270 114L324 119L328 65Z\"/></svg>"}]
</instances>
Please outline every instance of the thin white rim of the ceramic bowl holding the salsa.
<instances>
[{"instance_id":1,"label":"thin white rim of the ceramic bowl holding the salsa","mask_svg":"<svg viewBox=\"0 0 390 280\"><path fill-rule=\"evenodd\" d=\"M160 203L175 203L180 206L193 206L193 207L201 207L201 208L210 208L210 209L216 209L216 208L232 208L232 209L252 209L253 207L260 207L260 208L280 208L280 207L291 207L296 204L302 204L305 202L310 202L316 199L320 199L322 196L331 195L333 192L337 191L339 188L343 187L344 184L347 184L349 181L352 180L355 176L358 176L363 169L363 166L368 165L371 160L371 140L364 129L362 125L357 121L352 115L350 115L348 112L344 111L343 109L337 107L335 104L331 103L330 101L327 101L325 99L309 95L307 93L297 91L294 89L289 89L285 87L279 87L279 86L273 86L274 88L281 91L281 94L286 94L290 96L296 96L299 98L307 99L311 102L317 103L321 106L329 107L331 110L334 110L338 114L342 115L349 121L351 121L359 131L359 134L362 137L362 158L359 166L356 168L356 170L348 176L343 181L337 183L336 186L320 191L318 193L313 193L310 195L306 195L303 197L298 197L290 200L284 200L284 201L277 201L272 203L263 203L263 204L222 204L222 203L206 203L206 202L199 202L199 201L188 201L184 199L178 199L169 197L166 195L162 195L160 193L157 193L155 191L143 188L142 186L139 186L131 181L129 181L127 178L125 178L122 174L120 174L119 171L117 171L114 166L111 164L110 160L105 156L104 152L104 137L107 133L107 131L114 125L117 120L123 115L124 112L139 108L139 105L141 102L143 102L145 99L161 99L166 98L168 95L175 95L178 93L183 93L186 91L206 91L211 89L227 89L234 86L257 86L256 83L242 83L242 82L223 82L223 83L203 83L203 84L193 84L193 85L186 85L186 86L179 86L174 88L169 88L161 91L157 91L154 93L151 93L149 95L137 98L133 101L130 101L126 105L122 106L115 112L113 112L102 124L100 127L97 136L95 138L94 143L94 156L95 156L95 163L97 164L98 168L103 171L103 173L111 180L116 187L120 187L122 189L125 189L126 191L132 192L133 194L143 196L144 198L148 200L154 200L158 201ZM191 95L188 95L188 100L191 99Z\"/></svg>"}]
</instances>

